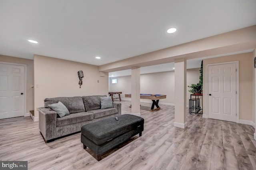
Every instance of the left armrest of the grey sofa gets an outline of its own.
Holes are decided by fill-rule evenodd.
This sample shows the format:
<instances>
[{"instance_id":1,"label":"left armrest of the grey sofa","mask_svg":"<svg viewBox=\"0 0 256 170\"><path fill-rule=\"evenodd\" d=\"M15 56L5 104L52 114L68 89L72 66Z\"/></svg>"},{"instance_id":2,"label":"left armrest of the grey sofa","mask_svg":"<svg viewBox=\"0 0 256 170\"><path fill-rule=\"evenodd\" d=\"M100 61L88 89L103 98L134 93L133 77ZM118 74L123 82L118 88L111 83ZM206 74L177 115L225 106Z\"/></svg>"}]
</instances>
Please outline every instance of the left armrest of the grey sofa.
<instances>
[{"instance_id":1,"label":"left armrest of the grey sofa","mask_svg":"<svg viewBox=\"0 0 256 170\"><path fill-rule=\"evenodd\" d=\"M57 112L50 108L39 108L39 129L44 136L44 140L54 138L56 132Z\"/></svg>"}]
</instances>

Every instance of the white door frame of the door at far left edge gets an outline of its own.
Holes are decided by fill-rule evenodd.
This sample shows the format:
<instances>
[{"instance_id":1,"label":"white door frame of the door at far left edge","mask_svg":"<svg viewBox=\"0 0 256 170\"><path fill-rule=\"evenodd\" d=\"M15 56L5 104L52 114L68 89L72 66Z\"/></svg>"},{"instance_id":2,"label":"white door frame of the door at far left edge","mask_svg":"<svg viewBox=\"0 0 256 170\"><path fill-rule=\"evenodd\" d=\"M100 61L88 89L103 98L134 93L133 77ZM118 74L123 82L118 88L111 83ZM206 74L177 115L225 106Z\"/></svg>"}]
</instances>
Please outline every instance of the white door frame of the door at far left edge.
<instances>
[{"instance_id":1,"label":"white door frame of the door at far left edge","mask_svg":"<svg viewBox=\"0 0 256 170\"><path fill-rule=\"evenodd\" d=\"M24 115L23 116L30 116L30 113L27 113L27 65L26 64L19 64L19 63L12 63L12 62L1 62L0 64L8 64L14 66L24 66Z\"/></svg>"}]
</instances>

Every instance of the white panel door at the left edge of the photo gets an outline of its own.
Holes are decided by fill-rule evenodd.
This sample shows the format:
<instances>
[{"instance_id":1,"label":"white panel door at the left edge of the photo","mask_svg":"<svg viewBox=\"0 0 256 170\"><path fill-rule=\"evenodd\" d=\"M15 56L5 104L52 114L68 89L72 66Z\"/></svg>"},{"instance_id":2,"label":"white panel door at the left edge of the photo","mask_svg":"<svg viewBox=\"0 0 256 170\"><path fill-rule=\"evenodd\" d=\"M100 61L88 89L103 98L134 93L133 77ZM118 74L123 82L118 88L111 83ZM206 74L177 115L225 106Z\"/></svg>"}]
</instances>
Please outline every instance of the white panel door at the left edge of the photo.
<instances>
[{"instance_id":1,"label":"white panel door at the left edge of the photo","mask_svg":"<svg viewBox=\"0 0 256 170\"><path fill-rule=\"evenodd\" d=\"M24 116L24 66L0 63L0 119Z\"/></svg>"}]
</instances>

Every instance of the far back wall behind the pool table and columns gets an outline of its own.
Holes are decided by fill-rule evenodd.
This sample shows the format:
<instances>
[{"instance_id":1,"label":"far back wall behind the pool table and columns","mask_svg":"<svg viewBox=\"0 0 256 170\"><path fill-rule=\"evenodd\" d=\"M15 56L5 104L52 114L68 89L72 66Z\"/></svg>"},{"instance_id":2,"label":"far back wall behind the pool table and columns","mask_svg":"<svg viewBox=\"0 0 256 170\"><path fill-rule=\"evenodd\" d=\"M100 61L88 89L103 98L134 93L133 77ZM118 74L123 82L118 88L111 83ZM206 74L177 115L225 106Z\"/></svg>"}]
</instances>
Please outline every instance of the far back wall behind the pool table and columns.
<instances>
[{"instance_id":1,"label":"far back wall behind the pool table and columns","mask_svg":"<svg viewBox=\"0 0 256 170\"><path fill-rule=\"evenodd\" d=\"M187 86L199 82L200 68L187 70ZM131 76L111 77L109 84L109 91L122 92L124 94L131 94ZM112 79L117 79L117 84L112 84ZM187 87L187 105L190 98L190 88ZM166 94L166 99L161 99L159 102L174 104L174 71L158 72L140 75L140 93L146 94ZM127 98L130 99L130 98ZM145 99L141 99L145 100ZM150 101L150 100L146 100Z\"/></svg>"}]
</instances>

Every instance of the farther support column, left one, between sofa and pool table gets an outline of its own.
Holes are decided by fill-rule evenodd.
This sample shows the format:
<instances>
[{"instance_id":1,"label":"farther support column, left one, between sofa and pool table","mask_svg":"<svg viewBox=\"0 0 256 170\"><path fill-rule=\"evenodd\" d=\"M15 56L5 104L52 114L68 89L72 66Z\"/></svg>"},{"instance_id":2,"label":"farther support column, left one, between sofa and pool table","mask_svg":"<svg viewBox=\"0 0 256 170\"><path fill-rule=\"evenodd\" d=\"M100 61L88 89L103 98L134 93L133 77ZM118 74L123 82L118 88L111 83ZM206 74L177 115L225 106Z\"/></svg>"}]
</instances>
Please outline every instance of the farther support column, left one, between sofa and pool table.
<instances>
[{"instance_id":1,"label":"farther support column, left one, between sofa and pool table","mask_svg":"<svg viewBox=\"0 0 256 170\"><path fill-rule=\"evenodd\" d=\"M140 68L132 67L132 112L136 116L140 116Z\"/></svg>"}]
</instances>

